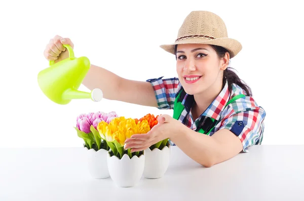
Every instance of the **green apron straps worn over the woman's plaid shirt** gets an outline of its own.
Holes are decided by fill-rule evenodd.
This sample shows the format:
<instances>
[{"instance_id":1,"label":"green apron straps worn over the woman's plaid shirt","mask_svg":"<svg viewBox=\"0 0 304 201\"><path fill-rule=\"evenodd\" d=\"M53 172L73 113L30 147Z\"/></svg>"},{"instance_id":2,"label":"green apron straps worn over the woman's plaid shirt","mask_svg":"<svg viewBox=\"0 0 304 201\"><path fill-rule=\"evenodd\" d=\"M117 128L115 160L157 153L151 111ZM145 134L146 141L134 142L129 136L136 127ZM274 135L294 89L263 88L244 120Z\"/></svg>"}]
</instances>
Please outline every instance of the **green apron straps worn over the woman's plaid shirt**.
<instances>
[{"instance_id":1,"label":"green apron straps worn over the woman's plaid shirt","mask_svg":"<svg viewBox=\"0 0 304 201\"><path fill-rule=\"evenodd\" d=\"M183 106L183 105L181 104L181 102L179 101L179 98L180 98L180 96L181 96L181 93L182 93L182 91L180 91L180 92L178 93L178 95L177 95L177 97L175 98L175 101L174 101L173 118L175 118L175 119L177 119L177 120L179 119L179 117L180 117L182 111L184 110L184 106ZM233 97L230 101L227 102L227 104L225 105L225 107L226 107L227 105L229 105L230 103L236 101L237 99L243 98L243 97L245 97L244 94L239 94L239 95ZM224 107L224 108L225 108L225 107ZM214 125L214 126L213 126L211 129L209 129L209 128L206 129L206 131L205 131L203 128L198 128L198 129L199 129L199 131L198 131L199 133L206 134L206 135L209 135L209 134L210 134L210 132L211 132L211 131L215 128L215 126L216 126L215 119L210 117L210 120L211 120L211 122L212 122L212 125ZM200 127L200 125L199 125L198 127Z\"/></svg>"}]
</instances>

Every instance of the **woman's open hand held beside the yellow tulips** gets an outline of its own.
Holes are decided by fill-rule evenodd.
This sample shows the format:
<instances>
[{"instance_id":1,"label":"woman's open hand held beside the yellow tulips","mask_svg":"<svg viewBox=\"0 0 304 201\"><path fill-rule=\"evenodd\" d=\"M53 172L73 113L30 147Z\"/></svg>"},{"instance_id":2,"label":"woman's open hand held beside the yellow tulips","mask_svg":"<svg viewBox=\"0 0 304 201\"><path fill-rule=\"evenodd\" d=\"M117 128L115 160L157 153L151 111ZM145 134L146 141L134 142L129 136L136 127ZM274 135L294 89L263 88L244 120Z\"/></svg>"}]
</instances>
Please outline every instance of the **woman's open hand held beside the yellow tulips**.
<instances>
[{"instance_id":1,"label":"woman's open hand held beside the yellow tulips","mask_svg":"<svg viewBox=\"0 0 304 201\"><path fill-rule=\"evenodd\" d=\"M142 151L162 141L170 138L172 134L180 132L182 124L168 114L158 116L158 124L146 134L134 134L126 139L125 149L131 148L131 152Z\"/></svg>"}]
</instances>

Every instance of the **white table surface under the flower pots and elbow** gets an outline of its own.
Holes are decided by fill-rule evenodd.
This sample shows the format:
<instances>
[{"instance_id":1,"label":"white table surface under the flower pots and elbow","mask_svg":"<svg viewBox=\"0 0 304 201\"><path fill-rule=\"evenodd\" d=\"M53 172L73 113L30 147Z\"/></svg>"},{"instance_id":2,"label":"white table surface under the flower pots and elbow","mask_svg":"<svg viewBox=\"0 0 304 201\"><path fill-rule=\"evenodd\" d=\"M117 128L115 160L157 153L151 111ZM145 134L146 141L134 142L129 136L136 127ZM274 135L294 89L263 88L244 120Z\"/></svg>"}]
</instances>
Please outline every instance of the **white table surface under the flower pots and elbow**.
<instances>
[{"instance_id":1,"label":"white table surface under the flower pots and elbow","mask_svg":"<svg viewBox=\"0 0 304 201\"><path fill-rule=\"evenodd\" d=\"M172 147L160 179L92 179L83 148L0 148L0 200L304 200L304 145L257 145L204 168Z\"/></svg>"}]
</instances>

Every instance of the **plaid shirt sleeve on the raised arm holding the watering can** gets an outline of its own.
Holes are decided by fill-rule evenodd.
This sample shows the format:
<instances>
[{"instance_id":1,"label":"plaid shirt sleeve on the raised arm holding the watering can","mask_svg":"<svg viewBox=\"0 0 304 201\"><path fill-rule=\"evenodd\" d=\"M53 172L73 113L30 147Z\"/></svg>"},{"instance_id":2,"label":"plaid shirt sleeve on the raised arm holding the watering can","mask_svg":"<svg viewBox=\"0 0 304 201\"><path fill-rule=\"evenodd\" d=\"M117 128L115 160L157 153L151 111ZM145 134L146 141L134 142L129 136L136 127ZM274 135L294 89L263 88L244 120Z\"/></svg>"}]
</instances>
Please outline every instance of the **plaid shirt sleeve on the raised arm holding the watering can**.
<instances>
[{"instance_id":1,"label":"plaid shirt sleeve on the raised arm holding the watering can","mask_svg":"<svg viewBox=\"0 0 304 201\"><path fill-rule=\"evenodd\" d=\"M173 109L175 95L179 87L178 77L147 79L154 89L159 109Z\"/></svg>"}]
</instances>

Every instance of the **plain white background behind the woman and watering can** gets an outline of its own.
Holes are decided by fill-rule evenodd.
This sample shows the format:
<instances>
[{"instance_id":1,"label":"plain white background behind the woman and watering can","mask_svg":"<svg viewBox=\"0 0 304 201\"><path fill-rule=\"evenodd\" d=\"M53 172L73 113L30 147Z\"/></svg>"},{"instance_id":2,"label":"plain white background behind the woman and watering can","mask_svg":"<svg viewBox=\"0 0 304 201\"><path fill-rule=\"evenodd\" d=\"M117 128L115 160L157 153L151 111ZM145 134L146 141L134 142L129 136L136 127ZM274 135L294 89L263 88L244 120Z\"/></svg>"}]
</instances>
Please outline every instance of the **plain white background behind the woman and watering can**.
<instances>
[{"instance_id":1,"label":"plain white background behind the woman and watering can","mask_svg":"<svg viewBox=\"0 0 304 201\"><path fill-rule=\"evenodd\" d=\"M73 129L80 113L172 114L106 99L58 105L44 96L37 74L49 66L43 52L58 34L72 39L76 57L86 56L125 78L177 76L175 57L159 46L174 42L193 10L219 15L228 35L242 43L232 67L267 112L263 144L304 144L304 14L297 2L5 1L0 5L0 147L80 147L83 140Z\"/></svg>"}]
</instances>

